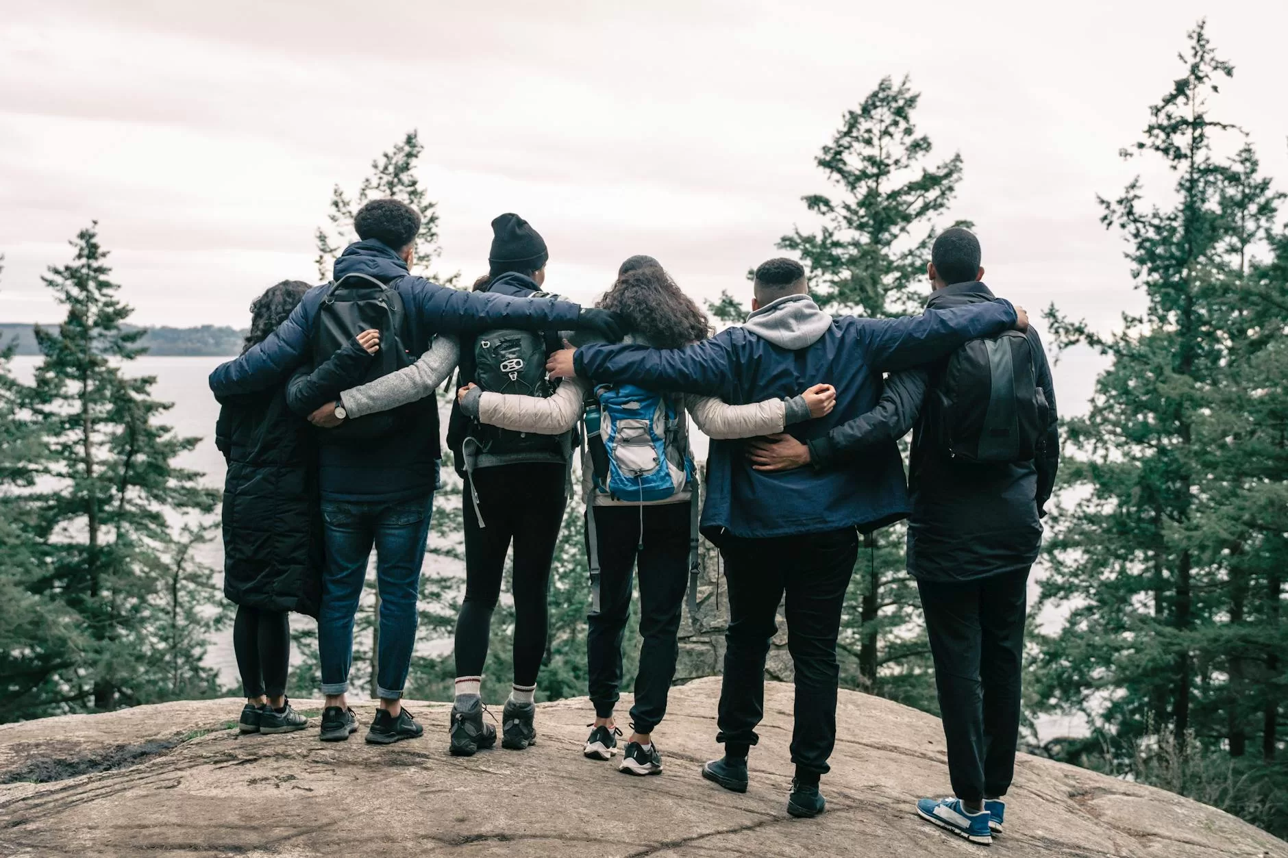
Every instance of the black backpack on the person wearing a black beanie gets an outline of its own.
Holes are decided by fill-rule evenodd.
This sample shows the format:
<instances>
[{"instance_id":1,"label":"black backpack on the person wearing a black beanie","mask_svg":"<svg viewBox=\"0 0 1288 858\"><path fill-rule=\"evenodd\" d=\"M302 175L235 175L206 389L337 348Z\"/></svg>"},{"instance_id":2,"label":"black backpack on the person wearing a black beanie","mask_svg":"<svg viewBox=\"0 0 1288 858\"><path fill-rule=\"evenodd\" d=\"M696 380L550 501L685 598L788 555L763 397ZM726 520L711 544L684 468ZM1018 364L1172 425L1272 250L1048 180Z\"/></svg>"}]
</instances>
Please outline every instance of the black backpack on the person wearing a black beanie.
<instances>
[{"instance_id":1,"label":"black backpack on the person wearing a black beanie","mask_svg":"<svg viewBox=\"0 0 1288 858\"><path fill-rule=\"evenodd\" d=\"M542 292L533 292L540 298ZM537 331L496 329L479 334L474 340L474 383L489 393L518 393L547 398L555 388L546 380L546 354L550 343ZM493 455L547 453L567 455L564 435L541 435L532 432L498 429L477 423L470 435L482 452Z\"/></svg>"}]
</instances>

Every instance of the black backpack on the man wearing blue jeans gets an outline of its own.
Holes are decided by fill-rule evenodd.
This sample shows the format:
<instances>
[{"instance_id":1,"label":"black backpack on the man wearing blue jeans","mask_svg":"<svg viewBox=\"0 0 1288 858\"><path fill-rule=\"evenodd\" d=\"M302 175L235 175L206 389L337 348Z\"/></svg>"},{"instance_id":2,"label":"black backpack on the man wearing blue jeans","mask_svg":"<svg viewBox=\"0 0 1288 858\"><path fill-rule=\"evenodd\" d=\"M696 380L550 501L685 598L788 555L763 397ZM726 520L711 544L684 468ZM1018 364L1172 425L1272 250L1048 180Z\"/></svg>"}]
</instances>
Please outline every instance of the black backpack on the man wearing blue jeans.
<instances>
[{"instance_id":1,"label":"black backpack on the man wearing blue jeans","mask_svg":"<svg viewBox=\"0 0 1288 858\"><path fill-rule=\"evenodd\" d=\"M313 330L313 366L321 366L353 338L370 329L380 331L380 350L358 384L375 381L411 363L401 336L402 296L397 290L366 274L348 274L331 283ZM415 405L345 420L335 429L327 429L325 437L339 442L388 438L407 426Z\"/></svg>"}]
</instances>

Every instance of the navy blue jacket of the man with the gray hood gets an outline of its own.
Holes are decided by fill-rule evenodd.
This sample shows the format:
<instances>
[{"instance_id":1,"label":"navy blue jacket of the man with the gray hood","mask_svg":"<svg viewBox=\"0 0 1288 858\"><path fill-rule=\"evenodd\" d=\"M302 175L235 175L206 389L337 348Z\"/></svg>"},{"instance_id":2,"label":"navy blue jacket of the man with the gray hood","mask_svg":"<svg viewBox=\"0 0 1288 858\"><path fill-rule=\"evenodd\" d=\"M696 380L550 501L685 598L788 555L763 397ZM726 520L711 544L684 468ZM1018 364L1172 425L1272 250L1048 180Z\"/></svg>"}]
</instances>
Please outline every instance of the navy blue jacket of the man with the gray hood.
<instances>
[{"instance_id":1,"label":"navy blue jacket of the man with the gray hood","mask_svg":"<svg viewBox=\"0 0 1288 858\"><path fill-rule=\"evenodd\" d=\"M793 397L814 384L836 386L836 408L827 417L792 425L806 442L862 415L881 396L881 374L925 363L966 340L1015 325L1015 308L996 301L927 312L911 318L827 317L805 296L793 296L822 316L805 348L784 348L746 327L730 327L684 349L640 345L585 345L574 363L582 377L645 388L717 396L730 405ZM782 301L792 299L781 299ZM818 325L818 319L806 322ZM761 326L762 329L764 326ZM791 341L788 336L783 341ZM862 462L826 472L752 470L739 441L712 441L707 460L707 499L702 531L712 541L733 536L762 539L818 533L846 527L882 527L908 514L907 484L898 446L890 441Z\"/></svg>"}]
</instances>

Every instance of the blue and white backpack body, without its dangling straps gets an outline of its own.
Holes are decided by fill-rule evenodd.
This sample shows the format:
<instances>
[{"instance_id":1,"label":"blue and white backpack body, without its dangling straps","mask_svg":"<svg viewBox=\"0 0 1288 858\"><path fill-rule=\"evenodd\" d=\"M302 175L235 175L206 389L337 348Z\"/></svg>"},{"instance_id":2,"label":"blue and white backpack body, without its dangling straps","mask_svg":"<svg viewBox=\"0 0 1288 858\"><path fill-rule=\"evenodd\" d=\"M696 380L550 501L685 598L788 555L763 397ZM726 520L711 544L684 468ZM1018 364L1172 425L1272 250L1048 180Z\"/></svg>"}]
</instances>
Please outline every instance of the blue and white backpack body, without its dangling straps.
<instances>
[{"instance_id":1,"label":"blue and white backpack body, without its dangling straps","mask_svg":"<svg viewBox=\"0 0 1288 858\"><path fill-rule=\"evenodd\" d=\"M679 398L634 384L601 386L595 394L607 464L604 474L596 468L595 488L638 502L663 501L688 488L693 459Z\"/></svg>"}]
</instances>

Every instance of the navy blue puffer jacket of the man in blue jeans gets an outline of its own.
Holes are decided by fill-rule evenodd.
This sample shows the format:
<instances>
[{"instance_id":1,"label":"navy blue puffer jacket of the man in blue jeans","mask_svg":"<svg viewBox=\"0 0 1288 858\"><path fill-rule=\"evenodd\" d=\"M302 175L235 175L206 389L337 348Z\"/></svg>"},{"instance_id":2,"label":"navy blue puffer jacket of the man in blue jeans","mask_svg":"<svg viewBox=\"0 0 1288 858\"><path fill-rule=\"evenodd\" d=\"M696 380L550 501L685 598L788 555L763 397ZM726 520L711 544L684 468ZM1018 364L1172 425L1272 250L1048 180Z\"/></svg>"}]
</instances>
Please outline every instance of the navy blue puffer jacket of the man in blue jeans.
<instances>
[{"instance_id":1,"label":"navy blue puffer jacket of the man in blue jeans","mask_svg":"<svg viewBox=\"0 0 1288 858\"><path fill-rule=\"evenodd\" d=\"M403 300L403 347L416 359L435 334L471 334L493 327L559 330L577 326L581 308L550 299L514 299L468 292L431 283L407 272L407 264L385 243L359 241L335 260L335 280L367 274L398 291ZM326 286L304 299L268 339L210 374L216 397L254 393L285 385L312 358L313 323ZM326 441L326 430L319 430ZM327 500L394 501L422 496L438 477L438 410L425 408L404 438L371 444L322 443L319 484Z\"/></svg>"}]
</instances>

